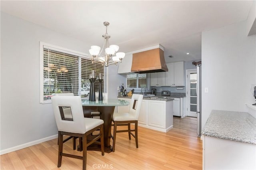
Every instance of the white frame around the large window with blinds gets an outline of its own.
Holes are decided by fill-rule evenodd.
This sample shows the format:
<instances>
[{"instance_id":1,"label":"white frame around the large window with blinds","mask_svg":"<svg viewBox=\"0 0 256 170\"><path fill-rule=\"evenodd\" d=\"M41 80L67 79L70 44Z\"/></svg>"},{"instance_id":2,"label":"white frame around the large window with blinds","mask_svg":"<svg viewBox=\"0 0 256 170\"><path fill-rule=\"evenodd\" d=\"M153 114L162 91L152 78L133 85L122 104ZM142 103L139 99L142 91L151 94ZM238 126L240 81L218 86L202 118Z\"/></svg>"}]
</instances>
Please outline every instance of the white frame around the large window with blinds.
<instances>
[{"instance_id":1,"label":"white frame around the large window with blinds","mask_svg":"<svg viewBox=\"0 0 256 170\"><path fill-rule=\"evenodd\" d=\"M66 53L66 54L70 54L70 55L75 55L81 58L86 58L86 59L91 59L88 54L86 53L82 53L79 51L75 51L72 49L67 49L64 47L60 47L57 45L52 45L49 43L44 43L44 42L40 42L40 103L45 104L45 103L52 103L51 100L46 100L44 101L44 47L49 47L52 50L58 51L58 52L62 52L62 53ZM81 58L79 59L79 61L81 60ZM108 68L104 67L104 73L106 73L106 77L104 77L104 82L106 87L104 87L106 89L106 92L108 92ZM79 83L79 95L81 93L81 79L78 77L78 83Z\"/></svg>"}]
</instances>

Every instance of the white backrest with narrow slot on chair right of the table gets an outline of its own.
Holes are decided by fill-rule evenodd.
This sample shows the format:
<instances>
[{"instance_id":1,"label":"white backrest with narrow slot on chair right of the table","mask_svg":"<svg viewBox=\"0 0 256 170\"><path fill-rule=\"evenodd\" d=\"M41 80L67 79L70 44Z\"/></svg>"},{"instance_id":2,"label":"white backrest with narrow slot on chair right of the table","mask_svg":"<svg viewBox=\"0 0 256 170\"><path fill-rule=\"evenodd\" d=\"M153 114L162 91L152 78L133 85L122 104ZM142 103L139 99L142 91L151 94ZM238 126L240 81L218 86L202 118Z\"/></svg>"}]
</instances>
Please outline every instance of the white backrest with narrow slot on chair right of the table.
<instances>
[{"instance_id":1,"label":"white backrest with narrow slot on chair right of the table","mask_svg":"<svg viewBox=\"0 0 256 170\"><path fill-rule=\"evenodd\" d=\"M138 94L132 95L129 114L134 115L135 120L138 120L138 117L140 115L140 107L141 107L142 99L143 99L143 95L138 95Z\"/></svg>"}]
</instances>

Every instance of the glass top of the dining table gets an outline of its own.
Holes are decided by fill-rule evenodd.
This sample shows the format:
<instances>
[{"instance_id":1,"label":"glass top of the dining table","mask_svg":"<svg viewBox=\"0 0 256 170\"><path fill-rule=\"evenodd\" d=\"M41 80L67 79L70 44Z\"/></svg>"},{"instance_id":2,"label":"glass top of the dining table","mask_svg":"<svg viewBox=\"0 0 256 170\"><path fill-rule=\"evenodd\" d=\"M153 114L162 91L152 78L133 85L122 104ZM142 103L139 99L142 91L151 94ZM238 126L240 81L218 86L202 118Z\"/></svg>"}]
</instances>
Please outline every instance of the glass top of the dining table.
<instances>
[{"instance_id":1,"label":"glass top of the dining table","mask_svg":"<svg viewBox=\"0 0 256 170\"><path fill-rule=\"evenodd\" d=\"M104 99L103 101L89 101L89 99L82 99L82 105L84 106L127 106L129 101L121 99Z\"/></svg>"}]
</instances>

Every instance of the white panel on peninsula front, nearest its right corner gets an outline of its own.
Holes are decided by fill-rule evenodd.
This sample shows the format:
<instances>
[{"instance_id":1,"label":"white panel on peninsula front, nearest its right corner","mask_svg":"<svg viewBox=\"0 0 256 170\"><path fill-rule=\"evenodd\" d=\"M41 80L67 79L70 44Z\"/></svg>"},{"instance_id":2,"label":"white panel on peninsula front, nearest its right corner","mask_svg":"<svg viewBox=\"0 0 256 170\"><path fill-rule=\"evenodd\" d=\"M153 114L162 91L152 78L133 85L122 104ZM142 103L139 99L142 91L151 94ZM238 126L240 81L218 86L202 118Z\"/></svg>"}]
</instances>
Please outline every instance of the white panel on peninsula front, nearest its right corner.
<instances>
[{"instance_id":1,"label":"white panel on peninsula front, nearest its right corner","mask_svg":"<svg viewBox=\"0 0 256 170\"><path fill-rule=\"evenodd\" d=\"M148 125L165 128L164 101L149 101L148 105Z\"/></svg>"}]
</instances>

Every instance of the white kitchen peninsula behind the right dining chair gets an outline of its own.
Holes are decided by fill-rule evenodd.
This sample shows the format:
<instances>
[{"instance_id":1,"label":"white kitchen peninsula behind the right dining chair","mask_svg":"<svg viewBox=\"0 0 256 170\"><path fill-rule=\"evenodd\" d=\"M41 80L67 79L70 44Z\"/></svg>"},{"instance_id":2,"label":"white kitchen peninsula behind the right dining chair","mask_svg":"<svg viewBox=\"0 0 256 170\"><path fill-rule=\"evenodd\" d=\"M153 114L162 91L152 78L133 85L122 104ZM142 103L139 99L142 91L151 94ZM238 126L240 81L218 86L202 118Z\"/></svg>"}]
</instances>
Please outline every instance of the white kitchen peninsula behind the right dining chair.
<instances>
[{"instance_id":1,"label":"white kitchen peninsula behind the right dining chair","mask_svg":"<svg viewBox=\"0 0 256 170\"><path fill-rule=\"evenodd\" d=\"M129 101L131 96L118 99ZM129 107L118 107L118 113L128 112ZM138 126L161 132L168 132L173 127L173 99L164 97L143 97L138 118Z\"/></svg>"}]
</instances>

